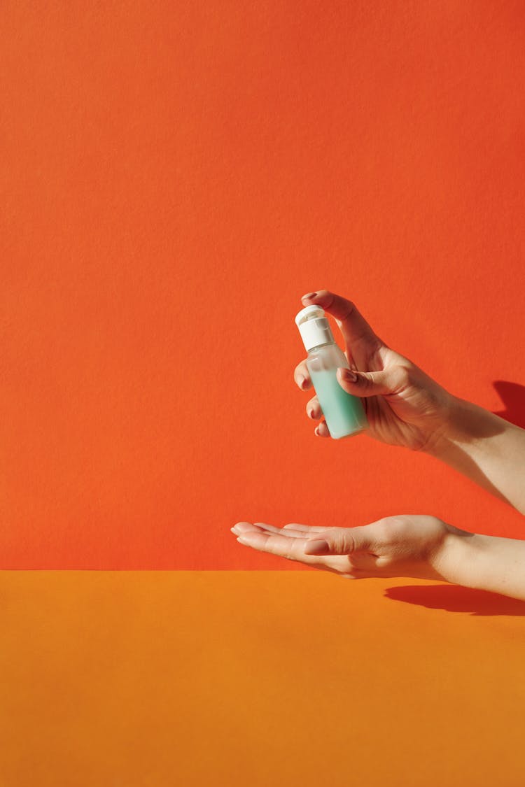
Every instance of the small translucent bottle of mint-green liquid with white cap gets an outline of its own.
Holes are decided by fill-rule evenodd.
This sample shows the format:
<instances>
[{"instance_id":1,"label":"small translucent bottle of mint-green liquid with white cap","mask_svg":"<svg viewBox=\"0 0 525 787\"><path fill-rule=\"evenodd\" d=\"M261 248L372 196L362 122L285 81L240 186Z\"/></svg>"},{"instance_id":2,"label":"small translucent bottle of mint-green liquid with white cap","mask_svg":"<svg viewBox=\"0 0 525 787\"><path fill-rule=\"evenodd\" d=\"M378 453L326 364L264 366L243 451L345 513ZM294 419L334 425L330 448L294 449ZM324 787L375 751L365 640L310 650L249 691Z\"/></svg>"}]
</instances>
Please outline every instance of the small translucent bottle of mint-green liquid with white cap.
<instances>
[{"instance_id":1,"label":"small translucent bottle of mint-green liquid with white cap","mask_svg":"<svg viewBox=\"0 0 525 787\"><path fill-rule=\"evenodd\" d=\"M295 316L295 324L308 353L306 366L331 437L338 440L360 434L368 427L363 403L339 385L336 372L339 367L349 369L349 363L335 343L324 309L306 306Z\"/></svg>"}]
</instances>

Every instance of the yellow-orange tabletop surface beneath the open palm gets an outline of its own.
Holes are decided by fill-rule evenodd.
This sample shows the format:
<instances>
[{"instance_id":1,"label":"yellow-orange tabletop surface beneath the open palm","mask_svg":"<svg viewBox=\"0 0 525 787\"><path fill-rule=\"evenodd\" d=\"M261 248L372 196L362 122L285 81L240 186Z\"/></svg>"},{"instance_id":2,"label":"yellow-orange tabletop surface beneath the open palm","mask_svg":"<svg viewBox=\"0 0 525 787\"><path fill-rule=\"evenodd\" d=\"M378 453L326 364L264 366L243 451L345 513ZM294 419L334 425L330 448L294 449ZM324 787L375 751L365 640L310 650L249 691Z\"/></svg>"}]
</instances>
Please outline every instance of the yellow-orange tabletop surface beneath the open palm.
<instances>
[{"instance_id":1,"label":"yellow-orange tabletop surface beneath the open palm","mask_svg":"<svg viewBox=\"0 0 525 787\"><path fill-rule=\"evenodd\" d=\"M317 571L5 571L2 787L523 785L525 604Z\"/></svg>"}]
</instances>

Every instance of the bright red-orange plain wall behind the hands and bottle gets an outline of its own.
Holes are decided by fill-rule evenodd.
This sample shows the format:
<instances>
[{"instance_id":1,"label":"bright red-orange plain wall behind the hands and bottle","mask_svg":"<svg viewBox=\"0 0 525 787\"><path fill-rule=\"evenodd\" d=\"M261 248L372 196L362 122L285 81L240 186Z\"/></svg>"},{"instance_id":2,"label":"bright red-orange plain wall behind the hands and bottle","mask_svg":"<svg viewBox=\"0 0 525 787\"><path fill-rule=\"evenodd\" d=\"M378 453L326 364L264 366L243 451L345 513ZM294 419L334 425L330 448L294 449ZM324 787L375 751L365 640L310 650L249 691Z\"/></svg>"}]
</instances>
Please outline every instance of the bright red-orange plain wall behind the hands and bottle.
<instances>
[{"instance_id":1,"label":"bright red-orange plain wall behind the hands and bottle","mask_svg":"<svg viewBox=\"0 0 525 787\"><path fill-rule=\"evenodd\" d=\"M236 521L523 518L316 438L300 296L525 425L522 2L2 6L3 568L305 570Z\"/></svg>"}]
</instances>

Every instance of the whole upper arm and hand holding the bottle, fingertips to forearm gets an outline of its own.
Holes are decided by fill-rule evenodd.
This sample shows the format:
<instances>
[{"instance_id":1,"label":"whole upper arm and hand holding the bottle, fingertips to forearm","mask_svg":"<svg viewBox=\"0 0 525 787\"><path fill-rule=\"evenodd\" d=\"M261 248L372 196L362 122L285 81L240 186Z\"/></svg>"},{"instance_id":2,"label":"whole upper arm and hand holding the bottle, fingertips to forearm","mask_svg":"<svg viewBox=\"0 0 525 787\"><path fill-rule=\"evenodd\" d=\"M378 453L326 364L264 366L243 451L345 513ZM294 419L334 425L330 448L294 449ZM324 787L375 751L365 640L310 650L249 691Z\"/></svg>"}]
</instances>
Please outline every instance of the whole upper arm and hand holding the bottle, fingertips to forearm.
<instances>
[{"instance_id":1,"label":"whole upper arm and hand holding the bottle, fingertips to forearm","mask_svg":"<svg viewBox=\"0 0 525 787\"><path fill-rule=\"evenodd\" d=\"M302 301L331 314L342 331L350 369L339 368L336 379L342 390L363 401L368 434L430 453L525 514L525 430L438 385L390 349L346 298L319 290L303 295ZM301 390L312 387L307 360L295 368L294 379ZM322 419L316 396L306 412ZM330 436L324 420L316 434Z\"/></svg>"}]
</instances>

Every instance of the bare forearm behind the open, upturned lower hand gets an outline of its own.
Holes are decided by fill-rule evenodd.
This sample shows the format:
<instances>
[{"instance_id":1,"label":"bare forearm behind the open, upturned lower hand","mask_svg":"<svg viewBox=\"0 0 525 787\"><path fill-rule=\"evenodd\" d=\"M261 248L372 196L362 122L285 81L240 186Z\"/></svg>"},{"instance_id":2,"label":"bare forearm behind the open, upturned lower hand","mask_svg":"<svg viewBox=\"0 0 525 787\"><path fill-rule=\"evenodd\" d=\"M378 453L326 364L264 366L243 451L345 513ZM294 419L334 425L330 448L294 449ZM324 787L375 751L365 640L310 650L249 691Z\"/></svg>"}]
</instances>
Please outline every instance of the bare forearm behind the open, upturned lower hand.
<instances>
[{"instance_id":1,"label":"bare forearm behind the open, upturned lower hand","mask_svg":"<svg viewBox=\"0 0 525 787\"><path fill-rule=\"evenodd\" d=\"M525 600L525 541L452 531L434 568L456 585Z\"/></svg>"}]
</instances>

